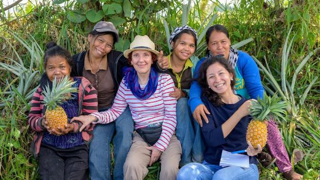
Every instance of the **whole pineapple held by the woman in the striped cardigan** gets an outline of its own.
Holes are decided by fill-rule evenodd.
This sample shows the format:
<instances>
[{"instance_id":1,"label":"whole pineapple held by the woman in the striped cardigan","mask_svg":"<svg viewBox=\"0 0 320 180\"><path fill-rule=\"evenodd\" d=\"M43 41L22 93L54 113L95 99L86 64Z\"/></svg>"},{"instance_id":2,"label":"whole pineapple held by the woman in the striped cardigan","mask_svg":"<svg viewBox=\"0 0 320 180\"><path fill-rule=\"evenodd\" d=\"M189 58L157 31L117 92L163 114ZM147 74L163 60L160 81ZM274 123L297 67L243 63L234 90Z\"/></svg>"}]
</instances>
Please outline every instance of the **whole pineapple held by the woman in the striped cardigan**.
<instances>
[{"instance_id":1,"label":"whole pineapple held by the woman in the striped cardigan","mask_svg":"<svg viewBox=\"0 0 320 180\"><path fill-rule=\"evenodd\" d=\"M49 84L45 87L42 95L44 105L47 107L45 115L50 129L57 130L58 127L68 123L67 114L59 104L71 98L70 93L77 92L76 87L71 87L74 83L69 76L65 76L59 82L54 78L51 89Z\"/></svg>"}]
</instances>

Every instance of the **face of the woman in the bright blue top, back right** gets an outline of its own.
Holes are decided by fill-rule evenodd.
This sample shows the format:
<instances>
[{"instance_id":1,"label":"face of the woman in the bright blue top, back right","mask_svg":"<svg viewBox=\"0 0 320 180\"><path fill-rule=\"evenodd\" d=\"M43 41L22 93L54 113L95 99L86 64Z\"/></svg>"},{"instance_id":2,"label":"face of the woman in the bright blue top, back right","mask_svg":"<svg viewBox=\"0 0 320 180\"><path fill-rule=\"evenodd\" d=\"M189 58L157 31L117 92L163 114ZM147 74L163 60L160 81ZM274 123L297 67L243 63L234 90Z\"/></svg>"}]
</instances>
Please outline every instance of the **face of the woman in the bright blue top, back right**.
<instances>
[{"instance_id":1,"label":"face of the woman in the bright blue top, back right","mask_svg":"<svg viewBox=\"0 0 320 180\"><path fill-rule=\"evenodd\" d=\"M212 31L207 45L213 56L223 55L225 59L229 59L231 43L224 32Z\"/></svg>"}]
</instances>

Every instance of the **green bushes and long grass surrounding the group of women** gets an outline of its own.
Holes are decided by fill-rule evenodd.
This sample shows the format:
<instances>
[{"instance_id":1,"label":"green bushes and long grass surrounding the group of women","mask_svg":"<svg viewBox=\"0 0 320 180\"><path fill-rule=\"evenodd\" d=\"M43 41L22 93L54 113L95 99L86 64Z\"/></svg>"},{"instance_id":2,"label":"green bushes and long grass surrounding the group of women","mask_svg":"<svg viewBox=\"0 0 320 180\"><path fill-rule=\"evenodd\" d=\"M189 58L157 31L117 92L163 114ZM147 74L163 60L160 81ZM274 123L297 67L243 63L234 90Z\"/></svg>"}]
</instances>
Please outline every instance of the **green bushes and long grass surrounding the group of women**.
<instances>
[{"instance_id":1,"label":"green bushes and long grass surrounding the group of women","mask_svg":"<svg viewBox=\"0 0 320 180\"><path fill-rule=\"evenodd\" d=\"M188 24L200 38L195 53L199 58L206 50L206 29L213 24L225 25L232 44L255 57L267 92L277 92L289 104L286 121L278 126L295 171L305 179L319 178L318 1L16 2L12 7L0 2L1 179L39 178L37 162L28 152L32 131L26 117L28 102L43 73L45 44L56 41L72 54L85 50L88 32L101 20L113 22L119 30L121 40L115 49L125 50L135 35L147 34L165 54L170 52L168 34L174 27ZM260 166L259 170L261 179L283 178L275 165ZM146 179L157 179L158 171L156 163Z\"/></svg>"}]
</instances>

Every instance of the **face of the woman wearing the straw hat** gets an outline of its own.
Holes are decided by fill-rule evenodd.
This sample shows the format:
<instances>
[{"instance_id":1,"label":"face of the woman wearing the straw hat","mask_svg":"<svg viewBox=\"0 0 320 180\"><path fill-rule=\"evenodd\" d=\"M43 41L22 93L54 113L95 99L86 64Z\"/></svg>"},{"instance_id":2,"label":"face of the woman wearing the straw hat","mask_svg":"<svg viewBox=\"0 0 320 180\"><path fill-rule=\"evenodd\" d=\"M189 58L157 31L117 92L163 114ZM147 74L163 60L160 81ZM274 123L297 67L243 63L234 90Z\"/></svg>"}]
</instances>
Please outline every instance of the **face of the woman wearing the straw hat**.
<instances>
[{"instance_id":1,"label":"face of the woman wearing the straw hat","mask_svg":"<svg viewBox=\"0 0 320 180\"><path fill-rule=\"evenodd\" d=\"M132 51L131 65L137 71L138 75L149 74L152 65L152 55L148 50Z\"/></svg>"}]
</instances>

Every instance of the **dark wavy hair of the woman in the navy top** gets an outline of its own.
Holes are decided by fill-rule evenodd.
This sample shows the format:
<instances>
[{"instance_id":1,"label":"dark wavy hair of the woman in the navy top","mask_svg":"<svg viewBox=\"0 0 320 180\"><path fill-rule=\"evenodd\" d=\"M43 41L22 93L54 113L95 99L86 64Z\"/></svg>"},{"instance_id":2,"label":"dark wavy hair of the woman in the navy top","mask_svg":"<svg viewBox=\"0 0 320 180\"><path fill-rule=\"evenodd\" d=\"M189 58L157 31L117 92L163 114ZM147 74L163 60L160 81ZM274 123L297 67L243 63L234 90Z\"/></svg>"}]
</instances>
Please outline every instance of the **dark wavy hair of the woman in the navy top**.
<instances>
[{"instance_id":1,"label":"dark wavy hair of the woman in the navy top","mask_svg":"<svg viewBox=\"0 0 320 180\"><path fill-rule=\"evenodd\" d=\"M229 73L232 74L233 80L231 80L231 88L234 90L234 84L235 84L235 73L234 69L231 67L230 63L224 58L224 57L217 57L213 56L212 58L206 60L199 69L199 76L197 78L198 84L201 86L203 95L206 96L210 102L212 102L216 106L221 106L224 103L221 100L221 97L214 91L212 91L211 88L209 88L208 82L207 82L207 69L210 65L219 63L224 68L227 69Z\"/></svg>"}]
</instances>

